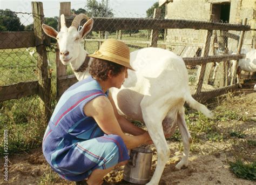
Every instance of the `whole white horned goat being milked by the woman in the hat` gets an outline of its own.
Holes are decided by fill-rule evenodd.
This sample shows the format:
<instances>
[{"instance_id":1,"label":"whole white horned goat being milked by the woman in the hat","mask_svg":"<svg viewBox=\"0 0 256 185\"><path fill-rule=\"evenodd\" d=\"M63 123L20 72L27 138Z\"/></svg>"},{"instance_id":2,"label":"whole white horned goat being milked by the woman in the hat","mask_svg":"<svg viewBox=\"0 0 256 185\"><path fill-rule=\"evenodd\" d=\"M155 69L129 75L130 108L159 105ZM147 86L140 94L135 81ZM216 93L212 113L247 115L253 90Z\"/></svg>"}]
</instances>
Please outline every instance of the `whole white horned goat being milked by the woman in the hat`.
<instances>
[{"instance_id":1,"label":"whole white horned goat being milked by the woman in the hat","mask_svg":"<svg viewBox=\"0 0 256 185\"><path fill-rule=\"evenodd\" d=\"M93 20L87 20L77 31L84 18L88 19L85 15L76 16L67 28L62 15L59 33L50 26L42 25L47 35L58 40L60 60L64 65L71 65L78 80L90 75L88 66L93 60L86 56L87 52L81 44L92 29ZM170 155L164 135L173 134L177 125L183 139L184 154L176 168L188 165L192 139L185 122L184 103L187 102L206 117L211 118L213 114L192 98L186 66L181 57L164 49L149 47L132 52L130 60L136 71L128 70L123 86L112 88L111 94L119 114L145 123L158 154L157 167L148 184L158 184Z\"/></svg>"}]
</instances>

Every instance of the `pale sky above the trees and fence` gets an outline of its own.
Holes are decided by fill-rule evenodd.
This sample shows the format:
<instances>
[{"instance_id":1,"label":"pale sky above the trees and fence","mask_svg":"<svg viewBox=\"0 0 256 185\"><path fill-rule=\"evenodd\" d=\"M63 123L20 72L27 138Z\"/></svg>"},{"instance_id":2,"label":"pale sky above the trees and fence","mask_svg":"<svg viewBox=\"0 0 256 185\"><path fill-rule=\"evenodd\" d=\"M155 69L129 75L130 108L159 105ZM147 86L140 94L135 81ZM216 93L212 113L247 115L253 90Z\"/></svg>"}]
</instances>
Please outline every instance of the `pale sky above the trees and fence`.
<instances>
[{"instance_id":1,"label":"pale sky above the trees and fence","mask_svg":"<svg viewBox=\"0 0 256 185\"><path fill-rule=\"evenodd\" d=\"M32 0L0 0L0 9L31 13L31 1ZM101 2L101 0L97 1ZM71 9L76 10L85 8L86 6L86 0L41 0L38 2L43 2L45 17L59 16L59 2L71 2ZM109 8L112 9L114 17L146 17L146 10L156 2L158 2L158 0L109 0ZM32 23L31 16L18 14L18 17L21 18L21 23L24 25Z\"/></svg>"}]
</instances>

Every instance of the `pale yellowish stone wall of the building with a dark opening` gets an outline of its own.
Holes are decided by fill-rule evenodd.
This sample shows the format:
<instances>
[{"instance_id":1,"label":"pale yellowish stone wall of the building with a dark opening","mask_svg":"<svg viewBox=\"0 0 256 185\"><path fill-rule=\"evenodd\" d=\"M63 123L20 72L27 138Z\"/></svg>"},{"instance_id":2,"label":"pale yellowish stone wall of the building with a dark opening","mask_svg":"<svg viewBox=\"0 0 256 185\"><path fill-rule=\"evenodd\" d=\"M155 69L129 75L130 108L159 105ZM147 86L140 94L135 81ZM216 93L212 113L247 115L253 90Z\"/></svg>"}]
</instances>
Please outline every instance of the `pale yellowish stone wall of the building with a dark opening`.
<instances>
[{"instance_id":1,"label":"pale yellowish stone wall of the building with a dark opening","mask_svg":"<svg viewBox=\"0 0 256 185\"><path fill-rule=\"evenodd\" d=\"M170 19L187 19L187 20L210 20L211 4L230 2L230 23L238 24L241 19L248 18L248 24L251 28L256 28L256 0L173 0L167 4L167 18ZM184 42L204 44L204 30L192 29L169 29L167 31L167 42ZM240 35L240 32L233 31ZM235 50L237 42L228 39L230 50ZM255 31L248 31L245 35L245 47L256 46ZM196 45L196 44L195 44Z\"/></svg>"}]
</instances>

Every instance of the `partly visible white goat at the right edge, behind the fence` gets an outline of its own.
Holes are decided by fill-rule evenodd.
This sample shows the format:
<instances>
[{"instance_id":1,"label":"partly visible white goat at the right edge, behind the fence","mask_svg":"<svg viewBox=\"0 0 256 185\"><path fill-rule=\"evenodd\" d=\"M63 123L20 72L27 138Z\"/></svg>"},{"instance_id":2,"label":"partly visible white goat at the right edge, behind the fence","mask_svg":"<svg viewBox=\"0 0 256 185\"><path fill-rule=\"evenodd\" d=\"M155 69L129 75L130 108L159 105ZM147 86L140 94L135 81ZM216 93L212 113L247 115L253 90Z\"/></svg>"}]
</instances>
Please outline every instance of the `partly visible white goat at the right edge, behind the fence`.
<instances>
[{"instance_id":1,"label":"partly visible white goat at the right edge, behind the fence","mask_svg":"<svg viewBox=\"0 0 256 185\"><path fill-rule=\"evenodd\" d=\"M235 54L235 53L232 53L232 54ZM237 82L240 87L241 87L241 84L240 84L241 71L256 72L256 49L251 49L251 50L242 49L241 54L246 54L246 57L243 59L240 59L237 65L238 66L236 71ZM232 74L234 74L236 70L235 64L237 63L237 60L231 60L231 61L232 61Z\"/></svg>"}]
</instances>

